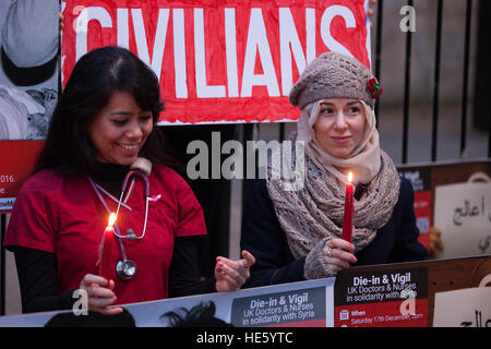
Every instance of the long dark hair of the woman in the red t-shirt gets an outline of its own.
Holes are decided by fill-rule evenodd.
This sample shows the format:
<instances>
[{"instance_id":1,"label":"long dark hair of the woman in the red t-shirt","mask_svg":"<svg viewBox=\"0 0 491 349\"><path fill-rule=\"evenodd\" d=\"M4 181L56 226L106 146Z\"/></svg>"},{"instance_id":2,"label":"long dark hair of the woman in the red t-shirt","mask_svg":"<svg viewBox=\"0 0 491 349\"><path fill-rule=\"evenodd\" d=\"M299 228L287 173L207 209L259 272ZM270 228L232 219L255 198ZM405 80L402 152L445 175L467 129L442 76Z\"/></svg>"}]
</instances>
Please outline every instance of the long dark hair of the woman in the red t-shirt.
<instances>
[{"instance_id":1,"label":"long dark hair of the woman in the red t-shirt","mask_svg":"<svg viewBox=\"0 0 491 349\"><path fill-rule=\"evenodd\" d=\"M95 49L76 62L51 117L35 171L51 168L60 174L88 174L96 151L87 129L115 92L130 93L142 110L151 110L154 125L164 110L156 74L131 51L116 46ZM179 169L159 128L154 128L140 155Z\"/></svg>"}]
</instances>

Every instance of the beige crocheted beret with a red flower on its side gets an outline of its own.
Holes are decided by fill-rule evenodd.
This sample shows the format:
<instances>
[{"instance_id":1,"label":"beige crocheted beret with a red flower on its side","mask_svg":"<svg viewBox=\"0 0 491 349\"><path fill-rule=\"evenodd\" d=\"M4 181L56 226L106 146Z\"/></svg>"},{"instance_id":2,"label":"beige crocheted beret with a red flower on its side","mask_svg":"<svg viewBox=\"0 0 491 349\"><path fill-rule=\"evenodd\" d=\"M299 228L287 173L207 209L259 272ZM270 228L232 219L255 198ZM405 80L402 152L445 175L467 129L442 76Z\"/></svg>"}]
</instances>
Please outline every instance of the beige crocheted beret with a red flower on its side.
<instances>
[{"instance_id":1,"label":"beige crocheted beret with a red flower on its side","mask_svg":"<svg viewBox=\"0 0 491 349\"><path fill-rule=\"evenodd\" d=\"M356 98L373 109L381 93L372 72L358 60L337 52L324 52L306 68L291 88L289 100L303 109L320 99Z\"/></svg>"}]
</instances>

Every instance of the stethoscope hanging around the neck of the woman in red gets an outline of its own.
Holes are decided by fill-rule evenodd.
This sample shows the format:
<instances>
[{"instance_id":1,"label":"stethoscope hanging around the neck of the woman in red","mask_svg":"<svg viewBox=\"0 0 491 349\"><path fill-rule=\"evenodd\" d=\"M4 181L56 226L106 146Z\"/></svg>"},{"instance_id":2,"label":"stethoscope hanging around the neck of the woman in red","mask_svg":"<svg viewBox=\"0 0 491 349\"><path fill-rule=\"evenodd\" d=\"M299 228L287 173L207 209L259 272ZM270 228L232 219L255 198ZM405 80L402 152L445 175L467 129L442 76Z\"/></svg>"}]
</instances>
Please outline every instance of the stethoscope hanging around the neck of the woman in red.
<instances>
[{"instance_id":1,"label":"stethoscope hanging around the neck of the woman in red","mask_svg":"<svg viewBox=\"0 0 491 349\"><path fill-rule=\"evenodd\" d=\"M119 246L119 253L121 256L121 260L116 265L116 274L122 280L130 280L136 274L136 263L134 263L133 261L128 258L127 251L124 249L124 242L122 239L142 240L143 237L145 237L146 222L147 222L147 218L148 218L148 201L149 201L148 178L143 171L141 171L139 169L130 170L128 172L128 174L124 177L124 180L123 180L123 183L121 186L121 195L118 201L117 198L115 198L115 196L112 196L109 192L107 192L103 186L95 183L91 177L88 177L88 181L91 182L92 188L96 192L99 201L101 202L104 208L106 209L106 212L108 214L110 214L111 210L110 210L109 206L107 205L106 201L104 200L101 193L106 194L109 198L111 198L112 201L118 203L118 207L116 209L116 218L118 218L119 209L121 206L123 206L124 208L127 208L129 210L132 210L131 207L127 205L127 202L130 198L131 192L133 190L133 185L134 185L137 177L142 179L142 181L145 185L145 218L143 221L142 234L136 236L132 229L128 229L127 234L123 236L123 234L121 234L121 231L119 230L118 225L116 222L113 226L115 227L115 236L118 238L117 241L118 241L118 246ZM123 200L124 193L127 192L128 183L130 182L130 180L131 180L130 189L128 191L128 195Z\"/></svg>"}]
</instances>

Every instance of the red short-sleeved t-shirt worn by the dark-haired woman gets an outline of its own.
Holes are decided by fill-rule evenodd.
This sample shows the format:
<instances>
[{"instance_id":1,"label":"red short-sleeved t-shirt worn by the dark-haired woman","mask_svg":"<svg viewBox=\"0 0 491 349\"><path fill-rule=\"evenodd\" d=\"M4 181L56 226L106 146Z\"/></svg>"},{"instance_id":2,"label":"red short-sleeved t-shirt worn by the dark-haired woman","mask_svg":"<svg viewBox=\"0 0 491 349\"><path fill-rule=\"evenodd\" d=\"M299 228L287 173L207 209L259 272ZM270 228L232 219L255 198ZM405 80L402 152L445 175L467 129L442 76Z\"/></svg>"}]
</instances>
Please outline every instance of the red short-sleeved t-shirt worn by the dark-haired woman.
<instances>
[{"instance_id":1,"label":"red short-sleeved t-shirt worn by the dark-haired woman","mask_svg":"<svg viewBox=\"0 0 491 349\"><path fill-rule=\"evenodd\" d=\"M203 210L188 183L173 170L154 166L148 177L151 197L145 237L124 240L127 256L136 264L131 280L113 272L117 303L144 302L168 297L169 266L175 237L205 234ZM158 196L160 195L160 196ZM112 212L117 204L103 194ZM139 179L121 206L117 225L122 234L141 236L145 213L144 185ZM85 274L97 274L98 248L108 215L86 178L60 177L43 170L28 178L14 203L4 245L20 245L55 253L58 288L80 287ZM117 240L115 240L116 242ZM112 265L121 258L112 246Z\"/></svg>"}]
</instances>

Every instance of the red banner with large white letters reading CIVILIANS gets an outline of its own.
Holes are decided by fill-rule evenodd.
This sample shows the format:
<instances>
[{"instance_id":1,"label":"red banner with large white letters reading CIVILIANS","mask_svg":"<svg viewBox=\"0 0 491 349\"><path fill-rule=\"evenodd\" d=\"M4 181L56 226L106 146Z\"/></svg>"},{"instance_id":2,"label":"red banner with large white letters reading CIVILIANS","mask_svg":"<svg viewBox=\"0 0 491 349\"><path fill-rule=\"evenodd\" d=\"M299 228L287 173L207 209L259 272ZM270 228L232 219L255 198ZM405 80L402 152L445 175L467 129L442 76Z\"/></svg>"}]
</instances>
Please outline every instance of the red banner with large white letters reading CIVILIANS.
<instances>
[{"instance_id":1,"label":"red banner with large white letters reading CIVILIANS","mask_svg":"<svg viewBox=\"0 0 491 349\"><path fill-rule=\"evenodd\" d=\"M135 52L160 80L160 123L296 120L288 93L324 51L370 68L366 0L67 0L65 83L97 47Z\"/></svg>"}]
</instances>

